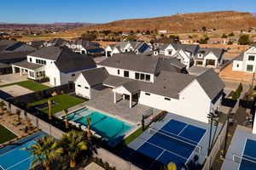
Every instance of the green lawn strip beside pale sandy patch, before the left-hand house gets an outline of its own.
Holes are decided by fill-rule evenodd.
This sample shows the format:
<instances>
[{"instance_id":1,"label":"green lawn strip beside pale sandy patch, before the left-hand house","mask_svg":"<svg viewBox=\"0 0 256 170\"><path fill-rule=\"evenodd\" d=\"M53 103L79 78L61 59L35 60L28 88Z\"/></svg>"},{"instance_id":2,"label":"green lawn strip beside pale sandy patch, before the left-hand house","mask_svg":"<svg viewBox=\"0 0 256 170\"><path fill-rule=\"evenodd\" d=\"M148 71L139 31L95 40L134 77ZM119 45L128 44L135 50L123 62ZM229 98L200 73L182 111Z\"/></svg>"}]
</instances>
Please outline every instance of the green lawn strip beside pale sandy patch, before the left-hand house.
<instances>
[{"instance_id":1,"label":"green lawn strip beside pale sandy patch, before the left-hand house","mask_svg":"<svg viewBox=\"0 0 256 170\"><path fill-rule=\"evenodd\" d=\"M10 83L10 84L5 84L5 85L2 85L0 86L0 88L3 88L3 87L7 87L7 86L12 86L12 85L19 85L23 88L27 88L27 89L30 89L34 92L37 92L39 90L44 90L46 88L49 88L48 86L45 86L43 84L40 84L38 82L33 82L32 80L27 80L27 81L23 81L23 82L14 82L14 83Z\"/></svg>"}]
</instances>

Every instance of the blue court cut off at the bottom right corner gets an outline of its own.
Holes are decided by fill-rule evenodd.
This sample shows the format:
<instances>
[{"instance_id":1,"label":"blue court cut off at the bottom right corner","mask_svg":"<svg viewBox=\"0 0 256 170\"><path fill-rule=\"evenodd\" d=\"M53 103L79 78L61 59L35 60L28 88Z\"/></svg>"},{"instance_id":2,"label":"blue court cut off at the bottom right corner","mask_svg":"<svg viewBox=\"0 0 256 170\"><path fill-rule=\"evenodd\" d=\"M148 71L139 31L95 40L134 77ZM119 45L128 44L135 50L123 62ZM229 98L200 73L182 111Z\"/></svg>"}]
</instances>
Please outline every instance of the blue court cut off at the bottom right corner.
<instances>
[{"instance_id":1,"label":"blue court cut off at the bottom right corner","mask_svg":"<svg viewBox=\"0 0 256 170\"><path fill-rule=\"evenodd\" d=\"M247 139L244 145L242 156L233 156L233 160L240 163L239 170L255 170L256 169L256 141Z\"/></svg>"}]
</instances>

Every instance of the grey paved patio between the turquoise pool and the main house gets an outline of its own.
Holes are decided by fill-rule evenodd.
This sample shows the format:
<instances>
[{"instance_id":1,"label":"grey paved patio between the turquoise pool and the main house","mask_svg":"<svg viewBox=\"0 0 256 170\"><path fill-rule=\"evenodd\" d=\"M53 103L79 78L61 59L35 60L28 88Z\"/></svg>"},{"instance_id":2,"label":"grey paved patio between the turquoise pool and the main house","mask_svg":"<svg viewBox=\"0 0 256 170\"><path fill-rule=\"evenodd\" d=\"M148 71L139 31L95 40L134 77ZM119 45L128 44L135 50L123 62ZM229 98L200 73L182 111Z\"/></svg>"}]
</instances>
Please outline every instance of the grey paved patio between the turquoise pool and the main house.
<instances>
[{"instance_id":1,"label":"grey paved patio between the turquoise pool and the main house","mask_svg":"<svg viewBox=\"0 0 256 170\"><path fill-rule=\"evenodd\" d=\"M143 114L152 109L146 105L139 104L133 105L132 108L130 108L129 100L123 98L119 98L119 100L114 103L114 94L112 88L105 88L97 93L98 94L96 94L94 99L90 99L89 101L85 102L84 105L96 111L108 113L109 115L115 116L126 122L141 122ZM160 110L153 109L153 116L159 112Z\"/></svg>"}]
</instances>

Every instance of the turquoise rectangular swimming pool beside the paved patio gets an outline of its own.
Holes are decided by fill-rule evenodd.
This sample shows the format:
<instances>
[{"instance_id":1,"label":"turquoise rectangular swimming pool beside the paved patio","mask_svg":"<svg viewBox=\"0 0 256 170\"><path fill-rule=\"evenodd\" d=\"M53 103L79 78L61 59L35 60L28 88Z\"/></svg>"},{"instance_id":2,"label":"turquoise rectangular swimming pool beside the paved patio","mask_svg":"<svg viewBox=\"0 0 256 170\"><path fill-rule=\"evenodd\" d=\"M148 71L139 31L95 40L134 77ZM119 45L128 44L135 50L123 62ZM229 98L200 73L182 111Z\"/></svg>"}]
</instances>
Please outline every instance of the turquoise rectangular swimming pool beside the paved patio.
<instances>
[{"instance_id":1,"label":"turquoise rectangular swimming pool beside the paved patio","mask_svg":"<svg viewBox=\"0 0 256 170\"><path fill-rule=\"evenodd\" d=\"M132 127L131 124L122 122L119 119L104 115L98 111L93 111L88 108L82 108L78 111L73 111L71 114L68 115L68 120L73 122L79 122L86 126L87 117L90 117L91 119L91 129L108 140L123 137L125 133L129 131Z\"/></svg>"}]
</instances>

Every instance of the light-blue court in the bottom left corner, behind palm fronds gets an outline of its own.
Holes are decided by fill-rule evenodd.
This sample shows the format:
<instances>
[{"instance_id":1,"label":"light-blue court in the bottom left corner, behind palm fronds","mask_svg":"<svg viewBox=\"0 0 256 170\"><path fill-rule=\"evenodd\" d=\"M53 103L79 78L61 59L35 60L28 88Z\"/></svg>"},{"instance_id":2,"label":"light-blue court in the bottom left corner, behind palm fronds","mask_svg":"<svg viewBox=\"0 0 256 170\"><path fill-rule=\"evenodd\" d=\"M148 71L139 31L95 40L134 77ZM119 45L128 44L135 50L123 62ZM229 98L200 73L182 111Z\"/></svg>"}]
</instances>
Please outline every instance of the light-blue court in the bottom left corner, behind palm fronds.
<instances>
[{"instance_id":1,"label":"light-blue court in the bottom left corner, behind palm fronds","mask_svg":"<svg viewBox=\"0 0 256 170\"><path fill-rule=\"evenodd\" d=\"M33 133L25 139L20 139L14 144L0 149L0 170L27 170L33 160L33 157L27 150L37 139L40 139L45 133Z\"/></svg>"}]
</instances>

